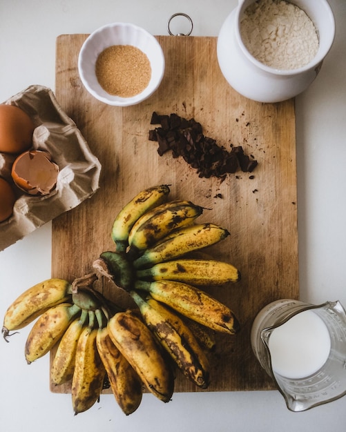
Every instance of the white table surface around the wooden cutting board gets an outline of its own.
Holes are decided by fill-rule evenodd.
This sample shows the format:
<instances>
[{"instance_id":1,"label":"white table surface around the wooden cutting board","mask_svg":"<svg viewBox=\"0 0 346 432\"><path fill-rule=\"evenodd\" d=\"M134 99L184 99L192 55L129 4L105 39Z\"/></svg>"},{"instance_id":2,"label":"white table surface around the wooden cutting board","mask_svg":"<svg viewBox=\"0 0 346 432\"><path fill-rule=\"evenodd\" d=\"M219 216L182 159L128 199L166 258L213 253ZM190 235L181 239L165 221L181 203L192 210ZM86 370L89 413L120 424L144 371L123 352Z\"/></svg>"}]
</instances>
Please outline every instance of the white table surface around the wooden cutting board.
<instances>
[{"instance_id":1,"label":"white table surface around the wooden cutting board","mask_svg":"<svg viewBox=\"0 0 346 432\"><path fill-rule=\"evenodd\" d=\"M316 0L318 1L318 0ZM346 1L329 1L336 39L316 81L296 98L300 297L346 306ZM185 12L193 36L217 36L236 0L0 0L0 101L41 84L54 90L58 35L89 33L112 21L167 35ZM182 28L182 32L184 32ZM0 253L0 316L26 288L50 277L51 224ZM291 413L278 391L175 393L169 404L144 395L126 417L112 395L73 415L70 395L48 388L48 356L28 366L27 329L0 340L0 429L84 431L333 431L346 428L346 397Z\"/></svg>"}]
</instances>

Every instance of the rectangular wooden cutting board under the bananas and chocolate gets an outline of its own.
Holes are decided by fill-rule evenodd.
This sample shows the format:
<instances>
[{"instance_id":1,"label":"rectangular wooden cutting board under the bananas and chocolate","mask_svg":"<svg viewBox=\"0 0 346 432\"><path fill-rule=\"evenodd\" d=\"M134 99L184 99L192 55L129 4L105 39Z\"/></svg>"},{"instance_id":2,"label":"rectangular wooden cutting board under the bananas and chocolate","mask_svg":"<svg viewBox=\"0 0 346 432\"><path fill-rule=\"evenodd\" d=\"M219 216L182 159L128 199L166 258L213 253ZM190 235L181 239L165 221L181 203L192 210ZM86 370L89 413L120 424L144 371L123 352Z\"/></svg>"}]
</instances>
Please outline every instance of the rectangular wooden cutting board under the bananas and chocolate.
<instances>
[{"instance_id":1,"label":"rectangular wooden cutting board under the bananas and chocolate","mask_svg":"<svg viewBox=\"0 0 346 432\"><path fill-rule=\"evenodd\" d=\"M107 106L93 99L79 79L77 57L86 37L58 37L55 94L99 158L102 176L91 199L52 223L52 277L72 281L92 272L99 253L114 248L110 228L122 206L144 188L171 184L172 199L191 199L210 209L200 220L230 231L210 253L242 273L238 284L209 290L242 324L236 336L217 336L209 391L273 389L253 356L250 330L262 306L282 297L298 298L294 100L261 104L238 95L218 67L215 37L160 36L166 72L155 95L137 106ZM258 166L251 175L238 172L220 181L198 177L170 153L160 157L157 144L148 141L154 110L194 117L204 135L228 149L242 146ZM99 280L97 288L128 302L106 280ZM52 391L68 393L70 386ZM175 391L200 390L178 375Z\"/></svg>"}]
</instances>

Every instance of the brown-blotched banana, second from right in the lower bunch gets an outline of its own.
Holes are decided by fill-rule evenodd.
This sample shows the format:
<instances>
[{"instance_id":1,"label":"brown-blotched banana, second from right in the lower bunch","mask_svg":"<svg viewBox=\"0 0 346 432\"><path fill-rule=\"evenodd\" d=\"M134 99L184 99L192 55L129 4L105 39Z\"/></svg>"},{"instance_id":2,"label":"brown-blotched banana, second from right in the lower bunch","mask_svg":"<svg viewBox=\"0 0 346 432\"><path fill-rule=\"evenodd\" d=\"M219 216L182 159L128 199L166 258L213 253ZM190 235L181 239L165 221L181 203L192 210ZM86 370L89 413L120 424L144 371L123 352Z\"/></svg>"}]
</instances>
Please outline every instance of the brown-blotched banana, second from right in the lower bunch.
<instances>
[{"instance_id":1,"label":"brown-blotched banana, second from right in the lower bunch","mask_svg":"<svg viewBox=\"0 0 346 432\"><path fill-rule=\"evenodd\" d=\"M96 344L117 404L126 415L134 413L142 401L139 375L113 344L107 326L99 328Z\"/></svg>"}]
</instances>

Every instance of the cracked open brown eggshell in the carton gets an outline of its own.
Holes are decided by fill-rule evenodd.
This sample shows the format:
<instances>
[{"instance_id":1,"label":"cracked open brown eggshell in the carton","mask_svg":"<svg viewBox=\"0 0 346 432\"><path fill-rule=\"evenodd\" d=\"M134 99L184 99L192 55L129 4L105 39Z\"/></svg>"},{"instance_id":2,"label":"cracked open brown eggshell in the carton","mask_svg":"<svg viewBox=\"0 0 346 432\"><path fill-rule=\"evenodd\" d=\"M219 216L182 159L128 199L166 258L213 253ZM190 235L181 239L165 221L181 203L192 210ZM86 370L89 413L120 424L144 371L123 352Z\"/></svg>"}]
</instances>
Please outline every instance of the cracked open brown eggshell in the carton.
<instances>
[{"instance_id":1,"label":"cracked open brown eggshell in the carton","mask_svg":"<svg viewBox=\"0 0 346 432\"><path fill-rule=\"evenodd\" d=\"M48 195L57 185L59 167L50 154L42 150L28 150L12 165L15 184L30 195Z\"/></svg>"}]
</instances>

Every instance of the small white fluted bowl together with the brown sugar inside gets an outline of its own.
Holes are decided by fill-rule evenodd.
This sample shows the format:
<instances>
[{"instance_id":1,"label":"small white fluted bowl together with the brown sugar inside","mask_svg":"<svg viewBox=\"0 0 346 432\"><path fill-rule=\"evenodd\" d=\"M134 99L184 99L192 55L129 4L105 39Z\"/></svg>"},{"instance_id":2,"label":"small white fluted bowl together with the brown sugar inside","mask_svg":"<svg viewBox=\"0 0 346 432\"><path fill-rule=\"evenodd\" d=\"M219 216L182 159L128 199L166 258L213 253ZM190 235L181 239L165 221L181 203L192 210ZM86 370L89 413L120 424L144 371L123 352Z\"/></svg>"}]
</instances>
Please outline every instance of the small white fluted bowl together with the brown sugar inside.
<instances>
[{"instance_id":1,"label":"small white fluted bowl together with the brown sugar inside","mask_svg":"<svg viewBox=\"0 0 346 432\"><path fill-rule=\"evenodd\" d=\"M120 61L114 61L116 51L121 52ZM100 55L106 60L102 57L100 60ZM101 63L102 72L97 61ZM119 80L117 67L122 68L123 75L126 71L128 77L134 77L132 84L124 77ZM131 23L111 23L95 30L84 42L78 57L79 77L86 90L104 104L113 106L140 104L150 97L160 86L164 67L160 43L149 32ZM116 81L122 87L113 91ZM124 88L126 84L128 88Z\"/></svg>"}]
</instances>

